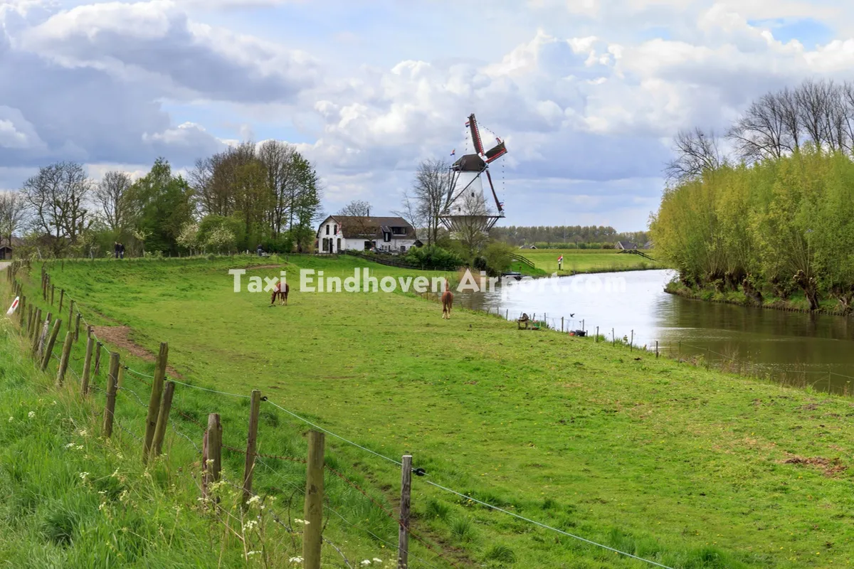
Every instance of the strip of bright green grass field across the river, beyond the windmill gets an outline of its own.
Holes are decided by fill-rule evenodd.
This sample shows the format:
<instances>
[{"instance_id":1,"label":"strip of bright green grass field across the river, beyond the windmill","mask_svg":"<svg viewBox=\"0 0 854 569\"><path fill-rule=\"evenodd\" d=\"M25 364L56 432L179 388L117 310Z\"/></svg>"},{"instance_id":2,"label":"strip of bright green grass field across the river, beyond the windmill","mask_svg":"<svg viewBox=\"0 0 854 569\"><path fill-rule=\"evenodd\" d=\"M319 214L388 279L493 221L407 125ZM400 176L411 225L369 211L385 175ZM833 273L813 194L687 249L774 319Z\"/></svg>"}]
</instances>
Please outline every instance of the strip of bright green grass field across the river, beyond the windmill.
<instances>
[{"instance_id":1,"label":"strip of bright green grass field across the river, beyond the windmill","mask_svg":"<svg viewBox=\"0 0 854 569\"><path fill-rule=\"evenodd\" d=\"M627 253L617 253L613 249L523 249L518 252L535 264L536 269L548 275L575 273L594 273L618 270L660 269L660 264L647 258ZM655 257L654 252L650 253ZM558 258L564 256L563 269L558 270Z\"/></svg>"}]
</instances>

